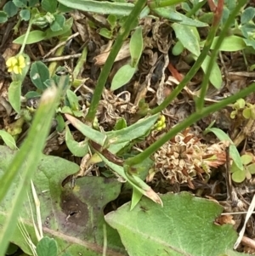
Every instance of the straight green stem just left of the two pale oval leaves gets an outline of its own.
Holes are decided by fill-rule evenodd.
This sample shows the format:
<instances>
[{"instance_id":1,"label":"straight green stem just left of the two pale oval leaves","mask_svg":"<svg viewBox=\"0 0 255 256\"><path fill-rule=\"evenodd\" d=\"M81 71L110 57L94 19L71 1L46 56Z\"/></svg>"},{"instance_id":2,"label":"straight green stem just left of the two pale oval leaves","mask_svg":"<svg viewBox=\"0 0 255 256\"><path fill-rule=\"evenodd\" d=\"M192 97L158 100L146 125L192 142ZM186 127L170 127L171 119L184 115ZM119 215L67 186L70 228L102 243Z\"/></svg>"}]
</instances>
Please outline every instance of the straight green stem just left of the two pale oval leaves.
<instances>
[{"instance_id":1,"label":"straight green stem just left of the two pale oval leaves","mask_svg":"<svg viewBox=\"0 0 255 256\"><path fill-rule=\"evenodd\" d=\"M122 48L122 43L128 37L129 32L135 26L137 22L137 18L139 17L140 12L144 8L145 3L146 3L146 0L137 1L135 6L133 7L132 12L128 15L126 22L120 29L118 36L116 37L116 42L114 43L111 49L111 53L109 54L107 60L105 61L105 65L99 75L99 80L94 90L94 95L88 110L88 114L86 116L86 120L88 122L94 121L94 117L96 115L96 111L99 105L99 100L101 99L101 95L105 88L105 82L107 81L107 78L110 74L112 65L114 63L114 60L116 59L116 55L118 54L119 50Z\"/></svg>"}]
</instances>

